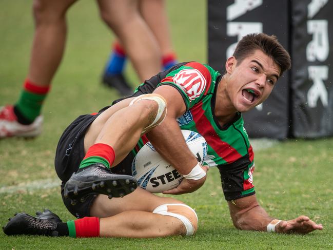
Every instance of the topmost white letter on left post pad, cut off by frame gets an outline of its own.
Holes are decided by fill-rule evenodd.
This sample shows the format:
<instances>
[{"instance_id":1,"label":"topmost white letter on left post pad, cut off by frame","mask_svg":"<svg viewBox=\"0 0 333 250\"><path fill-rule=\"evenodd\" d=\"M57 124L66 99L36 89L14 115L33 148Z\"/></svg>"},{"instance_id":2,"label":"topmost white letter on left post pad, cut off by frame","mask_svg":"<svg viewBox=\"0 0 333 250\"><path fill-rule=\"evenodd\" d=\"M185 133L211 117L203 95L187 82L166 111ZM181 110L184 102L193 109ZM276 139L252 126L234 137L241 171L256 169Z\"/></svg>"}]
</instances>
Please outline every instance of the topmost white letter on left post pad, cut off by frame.
<instances>
[{"instance_id":1,"label":"topmost white letter on left post pad, cut off by frame","mask_svg":"<svg viewBox=\"0 0 333 250\"><path fill-rule=\"evenodd\" d=\"M262 0L235 0L227 7L227 21L231 21L244 15L246 12L262 5Z\"/></svg>"}]
</instances>

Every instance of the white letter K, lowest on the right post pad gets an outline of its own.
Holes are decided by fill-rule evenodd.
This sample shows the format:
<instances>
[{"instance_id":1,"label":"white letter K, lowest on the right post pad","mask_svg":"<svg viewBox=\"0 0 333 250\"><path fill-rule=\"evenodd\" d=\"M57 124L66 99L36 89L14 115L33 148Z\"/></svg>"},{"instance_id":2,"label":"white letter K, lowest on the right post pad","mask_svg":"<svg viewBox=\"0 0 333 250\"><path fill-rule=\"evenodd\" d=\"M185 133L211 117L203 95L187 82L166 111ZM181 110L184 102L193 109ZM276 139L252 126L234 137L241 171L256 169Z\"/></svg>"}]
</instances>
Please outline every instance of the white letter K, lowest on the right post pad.
<instances>
[{"instance_id":1,"label":"white letter K, lowest on the right post pad","mask_svg":"<svg viewBox=\"0 0 333 250\"><path fill-rule=\"evenodd\" d=\"M310 108L317 107L320 99L323 106L328 105L328 93L323 80L328 78L328 66L308 66L309 78L314 82L307 92L307 103Z\"/></svg>"}]
</instances>

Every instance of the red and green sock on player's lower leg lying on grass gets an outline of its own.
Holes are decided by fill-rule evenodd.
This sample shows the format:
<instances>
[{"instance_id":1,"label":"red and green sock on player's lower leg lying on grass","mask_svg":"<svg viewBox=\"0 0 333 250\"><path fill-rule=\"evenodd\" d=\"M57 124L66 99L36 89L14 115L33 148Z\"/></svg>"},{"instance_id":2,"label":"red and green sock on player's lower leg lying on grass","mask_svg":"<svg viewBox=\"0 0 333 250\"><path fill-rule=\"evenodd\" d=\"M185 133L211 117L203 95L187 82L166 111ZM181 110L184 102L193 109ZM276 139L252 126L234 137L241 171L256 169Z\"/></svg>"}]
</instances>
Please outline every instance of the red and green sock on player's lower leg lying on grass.
<instances>
[{"instance_id":1,"label":"red and green sock on player's lower leg lying on grass","mask_svg":"<svg viewBox=\"0 0 333 250\"><path fill-rule=\"evenodd\" d=\"M97 217L84 217L82 219L70 220L67 221L66 224L69 237L88 238L100 236L100 219Z\"/></svg>"}]
</instances>

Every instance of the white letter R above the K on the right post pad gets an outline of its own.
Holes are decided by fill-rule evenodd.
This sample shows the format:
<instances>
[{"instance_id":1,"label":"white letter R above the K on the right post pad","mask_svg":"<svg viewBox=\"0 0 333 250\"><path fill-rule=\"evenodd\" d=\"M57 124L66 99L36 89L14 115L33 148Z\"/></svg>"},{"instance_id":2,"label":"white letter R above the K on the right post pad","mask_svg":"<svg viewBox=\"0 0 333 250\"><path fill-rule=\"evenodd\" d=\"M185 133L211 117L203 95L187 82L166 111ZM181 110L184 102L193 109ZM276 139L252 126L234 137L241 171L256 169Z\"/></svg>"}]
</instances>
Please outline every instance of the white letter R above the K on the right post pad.
<instances>
[{"instance_id":1,"label":"white letter R above the K on the right post pad","mask_svg":"<svg viewBox=\"0 0 333 250\"><path fill-rule=\"evenodd\" d=\"M306 59L315 62L316 59L324 62L329 55L327 20L307 21L307 32L312 34L312 41L306 46Z\"/></svg>"}]
</instances>

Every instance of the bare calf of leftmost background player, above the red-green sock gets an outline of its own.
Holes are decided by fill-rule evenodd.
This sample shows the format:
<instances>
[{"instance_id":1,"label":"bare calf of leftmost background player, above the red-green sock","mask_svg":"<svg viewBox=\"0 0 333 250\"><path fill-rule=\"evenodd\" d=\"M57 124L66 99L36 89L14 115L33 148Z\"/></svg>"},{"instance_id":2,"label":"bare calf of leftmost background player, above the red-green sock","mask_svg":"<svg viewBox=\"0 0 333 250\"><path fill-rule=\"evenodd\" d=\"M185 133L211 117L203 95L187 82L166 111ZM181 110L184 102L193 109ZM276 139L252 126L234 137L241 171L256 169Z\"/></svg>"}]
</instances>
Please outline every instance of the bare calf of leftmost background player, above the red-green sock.
<instances>
[{"instance_id":1,"label":"bare calf of leftmost background player, above the red-green sock","mask_svg":"<svg viewBox=\"0 0 333 250\"><path fill-rule=\"evenodd\" d=\"M67 32L66 12L74 2L76 0L33 2L36 29L28 79L37 85L50 85L62 60Z\"/></svg>"}]
</instances>

